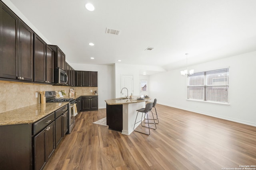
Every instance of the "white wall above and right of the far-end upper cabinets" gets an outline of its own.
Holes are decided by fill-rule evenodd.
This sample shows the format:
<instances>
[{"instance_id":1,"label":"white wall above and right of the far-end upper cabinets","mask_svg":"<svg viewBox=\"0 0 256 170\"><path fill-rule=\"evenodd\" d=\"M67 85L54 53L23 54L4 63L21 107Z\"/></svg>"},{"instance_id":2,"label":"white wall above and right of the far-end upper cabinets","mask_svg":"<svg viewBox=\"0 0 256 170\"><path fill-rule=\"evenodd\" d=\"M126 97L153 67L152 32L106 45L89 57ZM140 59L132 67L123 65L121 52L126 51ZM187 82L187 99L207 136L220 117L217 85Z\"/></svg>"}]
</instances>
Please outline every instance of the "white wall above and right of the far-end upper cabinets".
<instances>
[{"instance_id":1,"label":"white wall above and right of the far-end upper cabinets","mask_svg":"<svg viewBox=\"0 0 256 170\"><path fill-rule=\"evenodd\" d=\"M93 64L70 64L75 70L97 71L98 72L98 107L106 108L107 99L114 97L113 66L93 65Z\"/></svg>"}]
</instances>

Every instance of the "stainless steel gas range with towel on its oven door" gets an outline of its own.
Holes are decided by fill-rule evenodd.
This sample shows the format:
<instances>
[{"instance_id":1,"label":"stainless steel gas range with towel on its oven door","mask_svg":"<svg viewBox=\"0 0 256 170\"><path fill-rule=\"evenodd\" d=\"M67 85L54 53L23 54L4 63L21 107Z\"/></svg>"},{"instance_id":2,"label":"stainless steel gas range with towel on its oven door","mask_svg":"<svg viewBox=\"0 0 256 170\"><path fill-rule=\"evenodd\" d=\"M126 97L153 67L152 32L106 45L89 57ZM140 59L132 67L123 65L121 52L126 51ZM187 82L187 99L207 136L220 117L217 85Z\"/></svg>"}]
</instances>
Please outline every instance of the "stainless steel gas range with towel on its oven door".
<instances>
[{"instance_id":1,"label":"stainless steel gas range with towel on its oven door","mask_svg":"<svg viewBox=\"0 0 256 170\"><path fill-rule=\"evenodd\" d=\"M75 125L75 116L76 112L76 100L73 98L56 98L55 91L46 91L45 92L46 102L69 102L68 103L68 133L71 133L74 125Z\"/></svg>"}]
</instances>

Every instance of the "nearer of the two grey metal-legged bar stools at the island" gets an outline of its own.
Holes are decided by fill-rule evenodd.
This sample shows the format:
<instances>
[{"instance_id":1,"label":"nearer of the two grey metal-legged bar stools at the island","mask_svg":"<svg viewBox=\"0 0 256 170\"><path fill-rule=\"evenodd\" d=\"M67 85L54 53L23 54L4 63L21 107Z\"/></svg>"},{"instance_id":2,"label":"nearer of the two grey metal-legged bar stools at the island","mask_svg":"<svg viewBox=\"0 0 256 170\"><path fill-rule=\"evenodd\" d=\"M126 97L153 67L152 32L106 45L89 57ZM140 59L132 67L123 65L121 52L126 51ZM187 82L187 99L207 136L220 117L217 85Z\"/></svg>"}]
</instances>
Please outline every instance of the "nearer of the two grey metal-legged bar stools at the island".
<instances>
[{"instance_id":1,"label":"nearer of the two grey metal-legged bar stools at the island","mask_svg":"<svg viewBox=\"0 0 256 170\"><path fill-rule=\"evenodd\" d=\"M156 123L152 123L153 125L155 125L155 128L152 128L153 125L149 126L149 124L150 124L149 122L147 123L148 126L142 125L143 113L145 113L144 119L146 119L145 117L146 117L146 115L147 115L147 120L148 120L148 112L151 111L152 106L153 106L153 103L148 103L148 104L146 104L146 107L145 107L145 108L141 108L141 109L136 110L136 111L138 111L138 112L137 112L137 116L136 116L136 119L135 119L135 122L134 122L134 127L133 127L133 130L134 130L134 131L136 131L136 130L135 130L135 125L136 125L137 123L140 123L140 125L141 125L142 127L146 127L146 129L148 129L148 133L144 133L144 132L142 132L142 131L136 131L136 132L139 132L139 133L144 133L144 134L146 134L146 135L150 135L150 129L156 129ZM142 115L141 115L141 120L138 121L138 122L136 122L139 112L142 113ZM152 111L151 111L151 113L152 113ZM153 116L153 120L154 120L154 122L155 122L153 113L152 113L152 116ZM144 123L146 123L146 122L144 122Z\"/></svg>"}]
</instances>

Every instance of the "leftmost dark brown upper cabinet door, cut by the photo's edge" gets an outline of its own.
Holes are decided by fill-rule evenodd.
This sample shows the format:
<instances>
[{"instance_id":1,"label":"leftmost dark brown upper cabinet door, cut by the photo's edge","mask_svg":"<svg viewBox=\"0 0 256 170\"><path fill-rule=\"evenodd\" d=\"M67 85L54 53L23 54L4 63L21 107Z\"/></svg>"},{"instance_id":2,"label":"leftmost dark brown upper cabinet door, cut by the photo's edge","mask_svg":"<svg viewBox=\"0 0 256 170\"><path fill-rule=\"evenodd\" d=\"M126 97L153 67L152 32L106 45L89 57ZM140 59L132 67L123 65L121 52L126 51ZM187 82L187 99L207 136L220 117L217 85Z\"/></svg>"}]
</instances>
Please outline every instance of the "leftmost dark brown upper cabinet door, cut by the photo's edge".
<instances>
[{"instance_id":1,"label":"leftmost dark brown upper cabinet door, cut by the photo's edge","mask_svg":"<svg viewBox=\"0 0 256 170\"><path fill-rule=\"evenodd\" d=\"M0 77L18 77L18 35L19 19L0 2Z\"/></svg>"}]
</instances>

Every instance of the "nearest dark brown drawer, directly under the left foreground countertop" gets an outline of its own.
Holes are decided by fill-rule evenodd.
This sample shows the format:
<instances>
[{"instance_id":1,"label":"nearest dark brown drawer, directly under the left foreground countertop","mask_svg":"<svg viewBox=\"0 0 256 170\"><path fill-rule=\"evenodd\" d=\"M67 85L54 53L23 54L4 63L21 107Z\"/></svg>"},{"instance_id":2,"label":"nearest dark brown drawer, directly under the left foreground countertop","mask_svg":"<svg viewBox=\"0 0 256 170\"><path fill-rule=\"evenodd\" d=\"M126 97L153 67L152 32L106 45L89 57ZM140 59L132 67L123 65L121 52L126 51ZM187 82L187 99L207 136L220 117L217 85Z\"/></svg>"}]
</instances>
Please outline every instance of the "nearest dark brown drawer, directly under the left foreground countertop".
<instances>
[{"instance_id":1,"label":"nearest dark brown drawer, directly under the left foreground countertop","mask_svg":"<svg viewBox=\"0 0 256 170\"><path fill-rule=\"evenodd\" d=\"M46 117L40 119L36 123L33 124L33 135L40 132L42 129L44 129L46 126L50 125L52 121L55 119L55 114L52 112L50 115L47 115Z\"/></svg>"}]
</instances>

